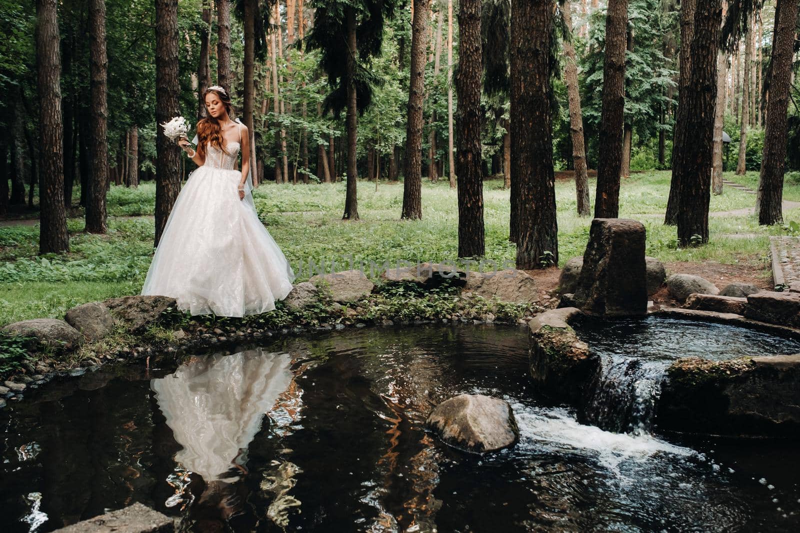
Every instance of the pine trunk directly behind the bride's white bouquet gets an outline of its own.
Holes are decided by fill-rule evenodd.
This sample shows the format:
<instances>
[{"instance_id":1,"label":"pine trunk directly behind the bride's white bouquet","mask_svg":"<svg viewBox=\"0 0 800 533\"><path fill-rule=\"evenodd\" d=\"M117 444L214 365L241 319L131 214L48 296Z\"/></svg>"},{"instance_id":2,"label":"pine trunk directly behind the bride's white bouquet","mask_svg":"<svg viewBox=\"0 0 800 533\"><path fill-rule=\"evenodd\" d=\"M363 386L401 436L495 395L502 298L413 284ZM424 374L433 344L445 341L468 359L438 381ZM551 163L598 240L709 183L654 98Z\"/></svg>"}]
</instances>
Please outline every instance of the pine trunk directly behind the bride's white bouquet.
<instances>
[{"instance_id":1,"label":"pine trunk directly behind the bride's white bouquet","mask_svg":"<svg viewBox=\"0 0 800 533\"><path fill-rule=\"evenodd\" d=\"M178 107L180 93L178 0L156 0L155 9L155 119L158 124L155 136L155 245L158 246L172 206L181 189L179 173L181 149L166 138L162 127L162 123L178 115L180 109Z\"/></svg>"}]
</instances>

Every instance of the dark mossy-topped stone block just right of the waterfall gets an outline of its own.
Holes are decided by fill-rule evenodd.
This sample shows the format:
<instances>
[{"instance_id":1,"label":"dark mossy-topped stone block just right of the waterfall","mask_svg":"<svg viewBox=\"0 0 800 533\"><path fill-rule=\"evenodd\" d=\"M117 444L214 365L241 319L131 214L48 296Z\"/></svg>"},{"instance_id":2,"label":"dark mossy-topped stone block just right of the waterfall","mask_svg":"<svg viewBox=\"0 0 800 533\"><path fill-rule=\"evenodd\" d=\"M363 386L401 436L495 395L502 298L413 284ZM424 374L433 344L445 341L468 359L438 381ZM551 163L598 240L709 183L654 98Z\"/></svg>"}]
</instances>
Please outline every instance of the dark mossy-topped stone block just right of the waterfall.
<instances>
[{"instance_id":1,"label":"dark mossy-topped stone block just right of the waterfall","mask_svg":"<svg viewBox=\"0 0 800 533\"><path fill-rule=\"evenodd\" d=\"M656 423L679 432L800 436L800 354L675 361Z\"/></svg>"}]
</instances>

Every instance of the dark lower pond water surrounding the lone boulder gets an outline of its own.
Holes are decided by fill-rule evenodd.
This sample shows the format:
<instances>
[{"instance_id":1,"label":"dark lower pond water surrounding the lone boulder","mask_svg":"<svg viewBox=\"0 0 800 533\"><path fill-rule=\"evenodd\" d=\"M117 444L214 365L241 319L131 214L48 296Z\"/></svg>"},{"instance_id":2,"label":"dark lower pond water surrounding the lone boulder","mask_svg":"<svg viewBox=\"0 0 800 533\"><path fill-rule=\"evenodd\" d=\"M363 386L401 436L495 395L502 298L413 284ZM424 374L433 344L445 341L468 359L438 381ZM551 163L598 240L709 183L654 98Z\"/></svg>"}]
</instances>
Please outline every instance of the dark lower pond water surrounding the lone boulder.
<instances>
[{"instance_id":1,"label":"dark lower pond water surrounding the lone boulder","mask_svg":"<svg viewBox=\"0 0 800 533\"><path fill-rule=\"evenodd\" d=\"M2 531L136 501L189 531L800 529L795 443L578 424L531 390L527 348L526 328L370 328L49 384L0 412ZM424 432L462 392L508 400L519 444Z\"/></svg>"}]
</instances>

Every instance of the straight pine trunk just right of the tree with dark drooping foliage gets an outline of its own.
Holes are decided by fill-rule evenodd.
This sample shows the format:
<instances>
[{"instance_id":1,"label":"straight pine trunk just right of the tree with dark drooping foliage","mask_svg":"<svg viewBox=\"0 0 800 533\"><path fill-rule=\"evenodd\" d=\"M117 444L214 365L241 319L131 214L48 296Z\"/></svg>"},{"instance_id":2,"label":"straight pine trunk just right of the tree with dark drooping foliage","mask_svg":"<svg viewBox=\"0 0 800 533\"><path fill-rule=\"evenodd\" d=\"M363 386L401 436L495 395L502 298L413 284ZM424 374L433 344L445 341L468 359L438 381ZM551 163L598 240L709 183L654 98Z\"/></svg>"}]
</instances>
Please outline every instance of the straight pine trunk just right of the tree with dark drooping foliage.
<instances>
[{"instance_id":1,"label":"straight pine trunk just right of the tree with dark drooping foliage","mask_svg":"<svg viewBox=\"0 0 800 533\"><path fill-rule=\"evenodd\" d=\"M428 40L427 26L430 0L413 0L413 2L411 79L408 89L406 165L404 169L406 180L403 183L402 214L400 217L419 219L422 218L422 126L424 125L422 121L422 99L425 91L425 51ZM461 15L459 14L459 19L460 17Z\"/></svg>"}]
</instances>

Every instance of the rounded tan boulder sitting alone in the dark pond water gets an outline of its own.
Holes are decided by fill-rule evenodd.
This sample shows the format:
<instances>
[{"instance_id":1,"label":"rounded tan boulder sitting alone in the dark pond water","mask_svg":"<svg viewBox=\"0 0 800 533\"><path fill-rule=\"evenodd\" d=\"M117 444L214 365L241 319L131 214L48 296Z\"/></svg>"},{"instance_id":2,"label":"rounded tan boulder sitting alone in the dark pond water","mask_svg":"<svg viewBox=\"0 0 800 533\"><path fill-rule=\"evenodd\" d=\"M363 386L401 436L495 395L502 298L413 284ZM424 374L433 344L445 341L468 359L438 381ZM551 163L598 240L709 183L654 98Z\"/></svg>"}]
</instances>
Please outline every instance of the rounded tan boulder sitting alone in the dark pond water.
<instances>
[{"instance_id":1,"label":"rounded tan boulder sitting alone in the dark pond water","mask_svg":"<svg viewBox=\"0 0 800 533\"><path fill-rule=\"evenodd\" d=\"M466 451L497 451L514 446L519 429L505 400L461 394L438 404L427 425L447 444Z\"/></svg>"}]
</instances>

